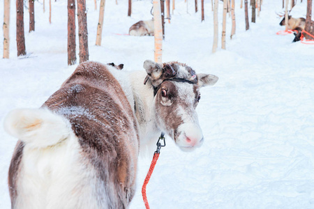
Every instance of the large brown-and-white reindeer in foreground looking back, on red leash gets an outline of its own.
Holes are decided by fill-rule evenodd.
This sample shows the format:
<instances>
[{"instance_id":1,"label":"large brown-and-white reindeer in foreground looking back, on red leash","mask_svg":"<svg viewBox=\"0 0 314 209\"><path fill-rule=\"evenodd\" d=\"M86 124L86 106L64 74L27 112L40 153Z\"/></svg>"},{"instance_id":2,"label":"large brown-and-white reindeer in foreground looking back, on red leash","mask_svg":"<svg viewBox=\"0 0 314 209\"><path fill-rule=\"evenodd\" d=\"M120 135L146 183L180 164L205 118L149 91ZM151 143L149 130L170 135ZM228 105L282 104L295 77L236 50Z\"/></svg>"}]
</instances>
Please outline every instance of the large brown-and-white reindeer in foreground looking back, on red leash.
<instances>
[{"instance_id":1,"label":"large brown-and-white reindeer in foreground looking back, on red leash","mask_svg":"<svg viewBox=\"0 0 314 209\"><path fill-rule=\"evenodd\" d=\"M8 114L5 129L20 139L8 173L12 208L128 208L140 146L160 132L182 150L202 144L195 108L218 77L181 63L144 68L128 75L81 63L40 109Z\"/></svg>"}]
</instances>

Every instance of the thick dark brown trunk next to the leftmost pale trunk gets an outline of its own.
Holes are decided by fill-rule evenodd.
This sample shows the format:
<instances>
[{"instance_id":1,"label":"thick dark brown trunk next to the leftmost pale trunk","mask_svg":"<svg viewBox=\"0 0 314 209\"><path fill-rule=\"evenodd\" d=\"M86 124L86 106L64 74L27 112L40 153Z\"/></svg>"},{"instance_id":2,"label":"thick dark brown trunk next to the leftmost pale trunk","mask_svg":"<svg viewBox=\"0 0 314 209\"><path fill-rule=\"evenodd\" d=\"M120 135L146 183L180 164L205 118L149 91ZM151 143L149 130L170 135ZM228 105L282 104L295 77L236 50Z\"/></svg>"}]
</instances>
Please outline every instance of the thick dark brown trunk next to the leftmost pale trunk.
<instances>
[{"instance_id":1,"label":"thick dark brown trunk next to the leftmost pale trunk","mask_svg":"<svg viewBox=\"0 0 314 209\"><path fill-rule=\"evenodd\" d=\"M25 36L24 36L24 1L16 0L16 43L17 56L25 55Z\"/></svg>"}]
</instances>

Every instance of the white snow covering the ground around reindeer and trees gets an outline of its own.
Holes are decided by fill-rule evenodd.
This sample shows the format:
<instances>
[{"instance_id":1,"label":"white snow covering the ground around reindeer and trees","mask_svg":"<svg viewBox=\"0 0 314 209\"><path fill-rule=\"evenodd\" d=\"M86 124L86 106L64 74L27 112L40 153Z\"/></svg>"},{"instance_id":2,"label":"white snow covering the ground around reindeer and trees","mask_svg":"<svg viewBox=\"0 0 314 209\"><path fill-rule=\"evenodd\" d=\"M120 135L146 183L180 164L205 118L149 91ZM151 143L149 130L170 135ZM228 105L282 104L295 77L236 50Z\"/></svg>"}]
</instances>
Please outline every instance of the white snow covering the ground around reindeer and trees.
<instances>
[{"instance_id":1,"label":"white snow covering the ground around reindeer and trees","mask_svg":"<svg viewBox=\"0 0 314 209\"><path fill-rule=\"evenodd\" d=\"M31 33L24 10L28 55L21 59L16 55L15 1L11 1L10 59L0 60L1 124L11 109L40 107L77 66L67 65L67 2L52 1L52 24L42 3L35 2L36 31ZM219 80L201 89L197 112L205 138L202 147L184 153L166 137L167 146L161 149L147 185L151 208L314 208L314 45L292 43L292 34L276 35L284 30L276 17L281 1L263 1L260 17L255 24L250 22L248 31L244 8L236 3L236 35L230 40L227 17L227 49L220 49L219 40L215 54L210 1L205 1L204 22L200 6L194 13L193 1L188 1L188 13L186 3L176 1L171 23L166 20L163 61L187 63ZM107 1L102 45L97 47L98 10L94 1L87 0L89 59L124 63L124 70L144 70L143 62L154 59L154 37L117 34L128 33L139 20L151 19L151 6L148 0L133 1L132 16L127 17L128 1L119 0L118 5ZM220 2L219 37L222 7ZM306 1L297 1L291 14L305 17ZM77 41L77 54L78 48ZM0 139L2 209L10 208L7 173L17 139L6 134L3 125ZM152 155L139 160L131 209L144 208L141 187Z\"/></svg>"}]
</instances>

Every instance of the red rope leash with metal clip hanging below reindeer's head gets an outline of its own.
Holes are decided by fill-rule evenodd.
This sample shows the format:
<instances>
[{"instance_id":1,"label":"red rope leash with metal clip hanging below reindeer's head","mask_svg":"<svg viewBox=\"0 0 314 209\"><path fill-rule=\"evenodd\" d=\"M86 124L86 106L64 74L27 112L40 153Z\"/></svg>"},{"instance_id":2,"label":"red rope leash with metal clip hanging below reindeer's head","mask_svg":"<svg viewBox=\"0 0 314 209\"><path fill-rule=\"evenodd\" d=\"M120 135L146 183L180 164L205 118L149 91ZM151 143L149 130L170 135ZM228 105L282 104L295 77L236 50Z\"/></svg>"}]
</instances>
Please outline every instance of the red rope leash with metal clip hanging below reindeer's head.
<instances>
[{"instance_id":1,"label":"red rope leash with metal clip hanging below reindeer's head","mask_svg":"<svg viewBox=\"0 0 314 209\"><path fill-rule=\"evenodd\" d=\"M142 186L142 196L143 196L143 201L144 201L144 204L145 204L145 207L147 209L149 209L149 203L147 201L147 196L146 196L146 186L147 184L149 183L149 179L151 178L151 174L153 173L154 171L154 168L155 168L155 165L156 165L156 162L158 160L158 157L159 157L159 154L160 154L160 148L165 146L165 137L164 137L164 133L161 133L160 134L160 137L157 141L157 150L155 151L154 153L154 157L153 157L153 160L151 161L151 167L149 167L149 171L147 173L147 176L144 180L144 184ZM163 144L161 144L159 141L163 141Z\"/></svg>"}]
</instances>

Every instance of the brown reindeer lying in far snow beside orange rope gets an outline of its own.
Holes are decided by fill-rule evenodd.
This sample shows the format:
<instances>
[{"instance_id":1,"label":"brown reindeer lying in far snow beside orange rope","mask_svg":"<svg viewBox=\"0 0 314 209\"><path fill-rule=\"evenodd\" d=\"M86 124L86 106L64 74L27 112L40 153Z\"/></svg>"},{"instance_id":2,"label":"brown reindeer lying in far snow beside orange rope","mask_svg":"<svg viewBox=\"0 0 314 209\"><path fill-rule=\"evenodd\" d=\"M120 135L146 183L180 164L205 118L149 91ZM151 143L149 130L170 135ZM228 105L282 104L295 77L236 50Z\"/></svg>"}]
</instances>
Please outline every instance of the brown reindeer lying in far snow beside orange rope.
<instances>
[{"instance_id":1,"label":"brown reindeer lying in far snow beside orange rope","mask_svg":"<svg viewBox=\"0 0 314 209\"><path fill-rule=\"evenodd\" d=\"M279 23L281 26L285 25L285 15L279 15L280 17L283 17L283 20L281 20L281 23ZM297 42L299 40L301 40L301 31L304 30L305 28L305 23L306 20L303 17L299 17L299 18L294 18L291 15L288 15L288 25L287 25L287 29L288 30L292 30L292 31L297 31L294 32L294 40L292 42Z\"/></svg>"}]
</instances>

